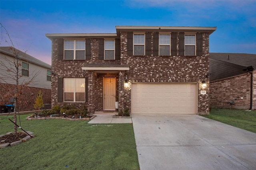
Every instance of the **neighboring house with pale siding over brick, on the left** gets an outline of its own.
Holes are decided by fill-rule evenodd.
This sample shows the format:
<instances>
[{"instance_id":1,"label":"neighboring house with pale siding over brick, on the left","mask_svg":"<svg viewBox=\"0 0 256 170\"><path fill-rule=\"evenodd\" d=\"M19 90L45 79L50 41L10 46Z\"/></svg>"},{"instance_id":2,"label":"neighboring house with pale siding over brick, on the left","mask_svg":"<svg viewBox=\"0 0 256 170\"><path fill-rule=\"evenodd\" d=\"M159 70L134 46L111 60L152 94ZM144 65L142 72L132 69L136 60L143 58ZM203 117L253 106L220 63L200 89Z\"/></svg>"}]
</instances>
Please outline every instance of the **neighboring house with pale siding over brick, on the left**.
<instances>
[{"instance_id":1,"label":"neighboring house with pale siding over brick, on the left","mask_svg":"<svg viewBox=\"0 0 256 170\"><path fill-rule=\"evenodd\" d=\"M18 49L19 60L19 85L30 82L27 86L18 86L20 94L18 94L18 111L34 110L34 102L38 92L41 90L45 106L50 106L51 95L51 66L46 64ZM12 105L10 98L14 97L14 89L16 84L13 47L0 47L0 102L1 105ZM2 107L1 107L2 108Z\"/></svg>"}]
</instances>

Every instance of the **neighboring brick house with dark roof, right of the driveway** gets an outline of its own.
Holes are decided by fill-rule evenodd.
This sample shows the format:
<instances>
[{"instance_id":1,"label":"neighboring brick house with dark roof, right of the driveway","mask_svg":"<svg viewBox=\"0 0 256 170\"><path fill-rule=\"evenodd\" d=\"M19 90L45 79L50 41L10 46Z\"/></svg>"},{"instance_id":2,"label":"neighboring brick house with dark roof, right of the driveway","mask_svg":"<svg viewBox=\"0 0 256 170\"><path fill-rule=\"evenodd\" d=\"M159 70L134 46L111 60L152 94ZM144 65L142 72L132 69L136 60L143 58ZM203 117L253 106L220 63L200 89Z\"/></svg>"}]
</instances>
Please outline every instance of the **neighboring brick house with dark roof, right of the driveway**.
<instances>
[{"instance_id":1,"label":"neighboring brick house with dark roof, right of the driveway","mask_svg":"<svg viewBox=\"0 0 256 170\"><path fill-rule=\"evenodd\" d=\"M211 107L256 109L256 54L210 53Z\"/></svg>"}]
</instances>

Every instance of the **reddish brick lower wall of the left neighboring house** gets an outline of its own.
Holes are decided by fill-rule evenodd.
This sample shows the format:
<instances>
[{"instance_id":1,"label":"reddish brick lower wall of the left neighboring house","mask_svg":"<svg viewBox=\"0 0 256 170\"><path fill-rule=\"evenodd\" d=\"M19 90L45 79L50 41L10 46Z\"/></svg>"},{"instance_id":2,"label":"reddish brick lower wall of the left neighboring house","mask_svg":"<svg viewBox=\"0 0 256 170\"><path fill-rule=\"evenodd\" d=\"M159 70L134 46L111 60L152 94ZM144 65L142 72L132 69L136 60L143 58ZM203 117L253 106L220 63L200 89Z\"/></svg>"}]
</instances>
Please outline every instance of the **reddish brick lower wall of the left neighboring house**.
<instances>
[{"instance_id":1,"label":"reddish brick lower wall of the left neighboring house","mask_svg":"<svg viewBox=\"0 0 256 170\"><path fill-rule=\"evenodd\" d=\"M0 88L1 105L11 104L10 98L14 96L14 88L15 88L15 85L13 85L13 84L4 84L4 83L1 84L1 88ZM51 103L51 100L50 100L51 90L50 89L34 88L34 87L28 87L28 86L23 86L23 87L19 86L19 89L20 89L20 93L19 93L19 96L17 97L18 111L35 110L34 103L35 103L35 100L36 100L39 90L41 90L41 92L42 92L44 104Z\"/></svg>"}]
</instances>

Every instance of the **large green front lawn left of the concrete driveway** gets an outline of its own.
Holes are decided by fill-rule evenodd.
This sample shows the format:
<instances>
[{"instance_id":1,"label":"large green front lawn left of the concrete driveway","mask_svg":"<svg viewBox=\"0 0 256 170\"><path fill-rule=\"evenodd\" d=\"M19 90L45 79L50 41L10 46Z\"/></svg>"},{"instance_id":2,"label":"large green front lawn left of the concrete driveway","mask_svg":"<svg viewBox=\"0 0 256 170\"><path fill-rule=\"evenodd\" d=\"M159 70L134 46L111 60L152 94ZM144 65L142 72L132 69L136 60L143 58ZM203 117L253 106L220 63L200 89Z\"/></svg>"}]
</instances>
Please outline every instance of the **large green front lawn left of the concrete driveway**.
<instances>
[{"instance_id":1,"label":"large green front lawn left of the concrete driveway","mask_svg":"<svg viewBox=\"0 0 256 170\"><path fill-rule=\"evenodd\" d=\"M87 124L88 121L61 119L27 121L27 116L20 116L22 128L34 132L36 137L0 149L1 170L139 169L132 124L93 125ZM0 134L13 131L11 121L0 122Z\"/></svg>"}]
</instances>

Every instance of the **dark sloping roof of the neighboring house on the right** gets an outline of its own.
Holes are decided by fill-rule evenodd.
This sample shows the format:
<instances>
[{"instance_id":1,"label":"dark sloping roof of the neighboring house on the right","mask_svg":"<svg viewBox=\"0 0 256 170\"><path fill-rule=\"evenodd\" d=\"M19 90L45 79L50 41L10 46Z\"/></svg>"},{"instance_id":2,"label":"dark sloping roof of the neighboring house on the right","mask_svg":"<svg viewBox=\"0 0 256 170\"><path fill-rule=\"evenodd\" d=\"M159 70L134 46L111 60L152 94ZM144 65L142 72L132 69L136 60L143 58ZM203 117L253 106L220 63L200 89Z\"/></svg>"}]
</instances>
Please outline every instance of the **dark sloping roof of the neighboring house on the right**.
<instances>
[{"instance_id":1,"label":"dark sloping roof of the neighboring house on the right","mask_svg":"<svg viewBox=\"0 0 256 170\"><path fill-rule=\"evenodd\" d=\"M210 53L210 82L245 74L250 66L256 68L256 54Z\"/></svg>"}]
</instances>

